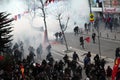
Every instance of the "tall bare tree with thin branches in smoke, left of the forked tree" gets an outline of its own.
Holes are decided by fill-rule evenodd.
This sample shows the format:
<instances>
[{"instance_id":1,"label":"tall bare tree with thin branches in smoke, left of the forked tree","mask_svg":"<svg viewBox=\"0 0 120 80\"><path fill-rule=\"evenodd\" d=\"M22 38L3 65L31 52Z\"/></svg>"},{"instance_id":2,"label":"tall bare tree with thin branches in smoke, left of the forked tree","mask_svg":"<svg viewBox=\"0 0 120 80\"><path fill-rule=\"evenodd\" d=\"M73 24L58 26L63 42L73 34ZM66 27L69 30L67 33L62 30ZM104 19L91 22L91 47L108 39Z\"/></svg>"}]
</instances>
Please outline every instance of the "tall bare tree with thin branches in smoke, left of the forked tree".
<instances>
[{"instance_id":1,"label":"tall bare tree with thin branches in smoke, left of the forked tree","mask_svg":"<svg viewBox=\"0 0 120 80\"><path fill-rule=\"evenodd\" d=\"M31 1L31 2L30 2L30 0L28 0L28 1L29 1L28 2L29 3L28 4L28 10L30 12L30 16L32 17L32 19L30 20L31 27L36 29L36 30L42 31L41 27L37 27L37 26L33 25L33 20L35 19L35 17L43 17L46 40L47 40L47 42L49 42L48 31L47 31L47 21L46 21L45 1L44 0L34 0L34 1Z\"/></svg>"}]
</instances>

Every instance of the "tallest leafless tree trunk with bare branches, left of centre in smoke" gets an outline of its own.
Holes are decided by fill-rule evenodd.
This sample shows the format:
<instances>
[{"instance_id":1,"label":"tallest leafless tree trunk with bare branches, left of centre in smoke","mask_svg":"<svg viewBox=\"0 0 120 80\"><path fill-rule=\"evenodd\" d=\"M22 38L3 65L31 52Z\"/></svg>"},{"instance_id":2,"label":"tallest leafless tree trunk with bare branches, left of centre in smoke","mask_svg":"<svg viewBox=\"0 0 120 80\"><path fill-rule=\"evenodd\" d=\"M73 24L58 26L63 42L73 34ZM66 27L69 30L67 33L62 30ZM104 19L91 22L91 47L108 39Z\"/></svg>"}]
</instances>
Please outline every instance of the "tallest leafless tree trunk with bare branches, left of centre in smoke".
<instances>
[{"instance_id":1,"label":"tallest leafless tree trunk with bare branches, left of centre in smoke","mask_svg":"<svg viewBox=\"0 0 120 80\"><path fill-rule=\"evenodd\" d=\"M30 2L30 1L29 1ZM41 3L41 4L38 4L38 3ZM37 3L37 4L36 4ZM32 10L31 8L29 8L29 6L34 6L34 10ZM36 7L37 6L37 7ZM42 15L40 17L43 17L43 21L44 21L44 28L45 28L45 34L46 34L46 41L49 42L48 40L48 30L47 30L47 23L46 23L46 12L45 12L45 4L44 4L44 1L43 0L34 0L33 4L28 4L28 10L30 11L30 15L31 15L31 20L30 20L30 24L31 24L31 27L36 29L36 30L40 30L38 27L36 26L33 26L33 20L35 19L35 16L36 16L36 12L37 10L41 10L41 13ZM34 12L33 12L34 11ZM41 14L41 13L38 13L38 14Z\"/></svg>"}]
</instances>

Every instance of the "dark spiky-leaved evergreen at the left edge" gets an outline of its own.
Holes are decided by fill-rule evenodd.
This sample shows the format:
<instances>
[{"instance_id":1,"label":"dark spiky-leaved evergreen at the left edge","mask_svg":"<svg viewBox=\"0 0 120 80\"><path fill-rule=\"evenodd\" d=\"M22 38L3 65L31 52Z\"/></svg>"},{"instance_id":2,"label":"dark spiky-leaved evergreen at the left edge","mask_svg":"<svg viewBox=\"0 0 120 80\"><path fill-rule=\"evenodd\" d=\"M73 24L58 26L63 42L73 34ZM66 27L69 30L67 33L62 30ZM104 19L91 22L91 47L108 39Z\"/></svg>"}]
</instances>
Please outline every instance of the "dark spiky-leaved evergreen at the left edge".
<instances>
[{"instance_id":1,"label":"dark spiky-leaved evergreen at the left edge","mask_svg":"<svg viewBox=\"0 0 120 80\"><path fill-rule=\"evenodd\" d=\"M13 35L10 34L13 30L10 25L14 19L9 19L9 15L5 12L0 13L0 54L7 51L9 42L13 40L11 39Z\"/></svg>"}]
</instances>

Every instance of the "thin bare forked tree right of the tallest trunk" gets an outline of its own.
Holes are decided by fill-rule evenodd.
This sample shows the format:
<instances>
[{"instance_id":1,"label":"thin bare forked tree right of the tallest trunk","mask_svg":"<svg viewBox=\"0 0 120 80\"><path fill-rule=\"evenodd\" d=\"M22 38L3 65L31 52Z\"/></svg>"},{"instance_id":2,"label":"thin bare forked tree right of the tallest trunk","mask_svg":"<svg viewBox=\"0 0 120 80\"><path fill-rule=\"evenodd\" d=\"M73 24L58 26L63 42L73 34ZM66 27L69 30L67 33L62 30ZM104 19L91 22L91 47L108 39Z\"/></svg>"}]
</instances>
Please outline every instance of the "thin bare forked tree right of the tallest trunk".
<instances>
[{"instance_id":1,"label":"thin bare forked tree right of the tallest trunk","mask_svg":"<svg viewBox=\"0 0 120 80\"><path fill-rule=\"evenodd\" d=\"M66 40L65 33L64 33L68 27L68 23L70 20L70 15L68 12L68 11L70 11L68 8L70 6L66 6L68 4L69 4L68 1L64 1L63 3L59 3L56 5L58 7L54 8L53 11L51 12L52 15L55 16L59 22L59 27L60 27L61 33L63 34L63 39L64 39L66 49L67 49L66 51L69 51L67 40ZM63 5L65 5L65 6L63 6Z\"/></svg>"}]
</instances>

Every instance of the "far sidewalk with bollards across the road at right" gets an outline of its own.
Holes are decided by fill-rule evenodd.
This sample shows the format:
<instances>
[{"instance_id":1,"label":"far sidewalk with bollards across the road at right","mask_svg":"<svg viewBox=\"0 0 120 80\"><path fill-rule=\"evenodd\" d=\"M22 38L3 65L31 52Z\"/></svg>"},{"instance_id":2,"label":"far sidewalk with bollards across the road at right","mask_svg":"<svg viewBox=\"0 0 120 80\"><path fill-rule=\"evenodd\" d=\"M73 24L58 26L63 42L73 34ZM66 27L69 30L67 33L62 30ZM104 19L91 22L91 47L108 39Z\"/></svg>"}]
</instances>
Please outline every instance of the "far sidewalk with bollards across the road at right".
<instances>
[{"instance_id":1,"label":"far sidewalk with bollards across the road at right","mask_svg":"<svg viewBox=\"0 0 120 80\"><path fill-rule=\"evenodd\" d=\"M104 26L105 26L105 24L103 22L101 22L100 25L99 25L100 38L114 40L114 41L120 41L120 26L117 28L117 30L113 29L112 32L110 31L110 29L105 29ZM96 34L98 33L95 29L94 29L94 32ZM85 32L83 30L82 34L91 36L92 35L92 31L88 32L88 34L87 34L87 32Z\"/></svg>"}]
</instances>

